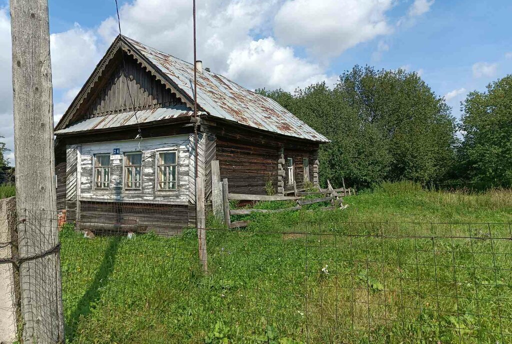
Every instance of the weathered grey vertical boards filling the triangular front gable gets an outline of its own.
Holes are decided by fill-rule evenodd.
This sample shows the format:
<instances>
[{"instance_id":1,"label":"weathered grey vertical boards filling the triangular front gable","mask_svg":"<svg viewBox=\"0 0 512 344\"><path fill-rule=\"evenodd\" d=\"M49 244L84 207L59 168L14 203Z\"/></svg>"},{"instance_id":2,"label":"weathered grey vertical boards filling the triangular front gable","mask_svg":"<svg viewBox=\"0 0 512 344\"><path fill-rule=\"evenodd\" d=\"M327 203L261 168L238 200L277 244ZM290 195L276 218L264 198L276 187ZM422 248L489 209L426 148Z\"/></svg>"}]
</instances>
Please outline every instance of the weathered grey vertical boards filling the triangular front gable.
<instances>
[{"instance_id":1,"label":"weathered grey vertical boards filling the triangular front gable","mask_svg":"<svg viewBox=\"0 0 512 344\"><path fill-rule=\"evenodd\" d=\"M103 80L80 107L81 118L91 118L134 110L157 109L181 104L157 78L145 71L132 56L125 55L126 77L119 57L112 62L110 76ZM133 98L133 105L130 99Z\"/></svg>"}]
</instances>

